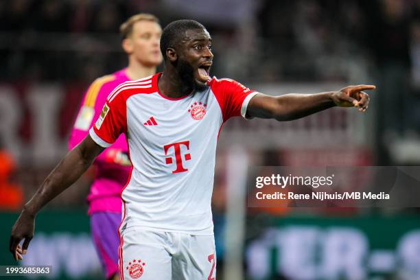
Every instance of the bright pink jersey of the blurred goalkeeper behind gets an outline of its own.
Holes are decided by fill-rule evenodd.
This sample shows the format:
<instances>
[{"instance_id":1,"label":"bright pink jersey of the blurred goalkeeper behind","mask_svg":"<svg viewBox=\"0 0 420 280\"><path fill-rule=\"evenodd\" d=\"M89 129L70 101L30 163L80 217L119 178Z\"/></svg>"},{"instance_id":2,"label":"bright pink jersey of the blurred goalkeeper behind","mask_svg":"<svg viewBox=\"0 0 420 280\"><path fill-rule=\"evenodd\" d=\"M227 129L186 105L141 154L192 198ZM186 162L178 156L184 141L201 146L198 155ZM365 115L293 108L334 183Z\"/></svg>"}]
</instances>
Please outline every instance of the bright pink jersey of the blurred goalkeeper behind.
<instances>
[{"instance_id":1,"label":"bright pink jersey of the blurred goalkeeper behind","mask_svg":"<svg viewBox=\"0 0 420 280\"><path fill-rule=\"evenodd\" d=\"M74 148L88 135L93 121L100 116L106 97L111 91L119 84L130 80L125 71L126 69L122 69L112 75L105 75L91 84L84 94L78 117L71 131L69 149ZM113 153L117 151L128 152L124 135L120 135L115 143L95 160L97 174L87 198L89 214L97 211L121 212L121 189L127 183L131 167L110 162Z\"/></svg>"}]
</instances>

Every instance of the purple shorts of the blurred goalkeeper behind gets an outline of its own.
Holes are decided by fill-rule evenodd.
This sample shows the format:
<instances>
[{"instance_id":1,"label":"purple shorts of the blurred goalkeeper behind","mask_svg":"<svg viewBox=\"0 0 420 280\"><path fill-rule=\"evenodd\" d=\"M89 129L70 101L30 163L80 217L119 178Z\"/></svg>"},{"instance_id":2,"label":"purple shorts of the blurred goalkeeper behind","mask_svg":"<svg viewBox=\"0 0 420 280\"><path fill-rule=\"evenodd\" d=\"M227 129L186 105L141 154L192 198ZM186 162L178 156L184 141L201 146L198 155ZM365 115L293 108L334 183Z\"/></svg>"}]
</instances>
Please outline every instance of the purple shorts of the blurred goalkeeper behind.
<instances>
[{"instance_id":1,"label":"purple shorts of the blurred goalkeeper behind","mask_svg":"<svg viewBox=\"0 0 420 280\"><path fill-rule=\"evenodd\" d=\"M91 215L91 232L97 255L104 268L106 279L118 274L118 228L121 213L96 212Z\"/></svg>"}]
</instances>

